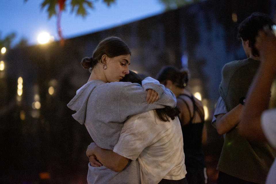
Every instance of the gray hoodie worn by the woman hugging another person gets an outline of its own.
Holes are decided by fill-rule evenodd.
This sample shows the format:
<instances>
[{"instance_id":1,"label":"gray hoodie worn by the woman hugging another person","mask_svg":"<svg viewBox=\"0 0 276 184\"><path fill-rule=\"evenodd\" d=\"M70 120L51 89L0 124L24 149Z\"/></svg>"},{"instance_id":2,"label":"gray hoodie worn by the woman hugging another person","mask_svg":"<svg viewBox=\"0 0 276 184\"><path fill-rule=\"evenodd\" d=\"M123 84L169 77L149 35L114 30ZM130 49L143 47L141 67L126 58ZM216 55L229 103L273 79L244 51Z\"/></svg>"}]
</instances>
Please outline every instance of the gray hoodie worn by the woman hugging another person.
<instances>
[{"instance_id":1,"label":"gray hoodie worn by the woman hugging another person","mask_svg":"<svg viewBox=\"0 0 276 184\"><path fill-rule=\"evenodd\" d=\"M160 99L153 104L146 102L147 89L155 90ZM175 107L175 95L158 81L147 77L142 86L137 83L105 83L93 80L78 89L76 96L67 104L76 111L72 116L87 131L95 143L104 149L113 150L118 142L123 122L128 116L147 112L164 106ZM138 161L129 161L127 166L116 173L105 166L92 167L87 181L91 183L140 183Z\"/></svg>"}]
</instances>

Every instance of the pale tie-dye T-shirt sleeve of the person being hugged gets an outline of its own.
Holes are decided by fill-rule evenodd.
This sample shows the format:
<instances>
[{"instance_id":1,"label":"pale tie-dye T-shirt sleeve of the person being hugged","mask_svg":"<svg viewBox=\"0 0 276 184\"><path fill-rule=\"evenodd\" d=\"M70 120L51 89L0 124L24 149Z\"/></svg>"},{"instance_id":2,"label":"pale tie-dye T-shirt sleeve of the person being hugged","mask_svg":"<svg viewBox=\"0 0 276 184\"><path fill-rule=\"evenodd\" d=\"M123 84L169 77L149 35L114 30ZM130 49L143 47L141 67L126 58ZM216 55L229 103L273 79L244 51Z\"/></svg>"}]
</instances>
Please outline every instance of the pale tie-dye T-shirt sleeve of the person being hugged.
<instances>
[{"instance_id":1,"label":"pale tie-dye T-shirt sleeve of the person being hugged","mask_svg":"<svg viewBox=\"0 0 276 184\"><path fill-rule=\"evenodd\" d=\"M114 146L113 152L136 160L141 152L152 144L154 137L155 133L147 126L145 118L136 115L135 119L132 117L124 123L119 141Z\"/></svg>"}]
</instances>

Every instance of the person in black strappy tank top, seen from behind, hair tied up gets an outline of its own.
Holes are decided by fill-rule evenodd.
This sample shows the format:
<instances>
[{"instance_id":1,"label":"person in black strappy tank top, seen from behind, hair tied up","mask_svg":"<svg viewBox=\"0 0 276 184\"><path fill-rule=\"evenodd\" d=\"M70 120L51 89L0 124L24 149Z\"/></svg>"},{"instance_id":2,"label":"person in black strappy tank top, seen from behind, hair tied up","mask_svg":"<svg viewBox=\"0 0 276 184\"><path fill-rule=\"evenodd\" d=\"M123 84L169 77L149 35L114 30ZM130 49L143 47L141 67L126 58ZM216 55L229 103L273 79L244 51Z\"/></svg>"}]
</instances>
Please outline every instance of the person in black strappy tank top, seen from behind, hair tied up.
<instances>
[{"instance_id":1,"label":"person in black strappy tank top, seen from behind, hair tied up","mask_svg":"<svg viewBox=\"0 0 276 184\"><path fill-rule=\"evenodd\" d=\"M166 66L156 78L177 97L177 106L181 111L178 117L183 133L187 181L189 184L205 184L207 175L202 150L202 141L206 140L204 110L201 101L185 89L188 72L180 71L173 66Z\"/></svg>"}]
</instances>

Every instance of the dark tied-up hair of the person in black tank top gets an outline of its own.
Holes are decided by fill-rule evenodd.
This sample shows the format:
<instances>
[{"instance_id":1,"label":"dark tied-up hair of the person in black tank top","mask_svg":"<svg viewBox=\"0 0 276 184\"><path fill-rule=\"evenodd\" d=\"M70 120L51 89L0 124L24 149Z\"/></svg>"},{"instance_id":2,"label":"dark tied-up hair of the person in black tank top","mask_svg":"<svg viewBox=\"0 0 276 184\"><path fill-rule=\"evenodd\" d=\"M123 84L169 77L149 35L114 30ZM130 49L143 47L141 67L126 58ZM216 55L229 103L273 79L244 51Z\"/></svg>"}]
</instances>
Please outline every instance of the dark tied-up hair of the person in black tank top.
<instances>
[{"instance_id":1,"label":"dark tied-up hair of the person in black tank top","mask_svg":"<svg viewBox=\"0 0 276 184\"><path fill-rule=\"evenodd\" d=\"M180 71L174 66L165 66L158 72L156 78L165 85L167 80L171 80L177 87L185 88L188 83L188 72L187 70Z\"/></svg>"}]
</instances>

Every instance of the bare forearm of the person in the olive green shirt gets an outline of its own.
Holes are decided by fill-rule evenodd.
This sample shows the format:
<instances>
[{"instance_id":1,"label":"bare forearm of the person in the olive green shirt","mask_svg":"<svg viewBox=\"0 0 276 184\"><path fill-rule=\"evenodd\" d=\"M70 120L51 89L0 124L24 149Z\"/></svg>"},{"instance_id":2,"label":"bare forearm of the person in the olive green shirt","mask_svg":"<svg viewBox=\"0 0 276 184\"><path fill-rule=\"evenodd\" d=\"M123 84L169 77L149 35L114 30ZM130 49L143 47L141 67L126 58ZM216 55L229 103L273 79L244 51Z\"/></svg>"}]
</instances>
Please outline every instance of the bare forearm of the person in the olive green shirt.
<instances>
[{"instance_id":1,"label":"bare forearm of the person in the olive green shirt","mask_svg":"<svg viewBox=\"0 0 276 184\"><path fill-rule=\"evenodd\" d=\"M225 134L235 128L240 121L243 105L239 104L226 114L219 114L216 118L216 130Z\"/></svg>"}]
</instances>

